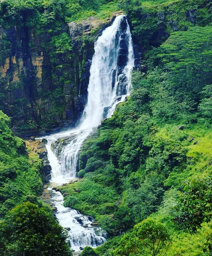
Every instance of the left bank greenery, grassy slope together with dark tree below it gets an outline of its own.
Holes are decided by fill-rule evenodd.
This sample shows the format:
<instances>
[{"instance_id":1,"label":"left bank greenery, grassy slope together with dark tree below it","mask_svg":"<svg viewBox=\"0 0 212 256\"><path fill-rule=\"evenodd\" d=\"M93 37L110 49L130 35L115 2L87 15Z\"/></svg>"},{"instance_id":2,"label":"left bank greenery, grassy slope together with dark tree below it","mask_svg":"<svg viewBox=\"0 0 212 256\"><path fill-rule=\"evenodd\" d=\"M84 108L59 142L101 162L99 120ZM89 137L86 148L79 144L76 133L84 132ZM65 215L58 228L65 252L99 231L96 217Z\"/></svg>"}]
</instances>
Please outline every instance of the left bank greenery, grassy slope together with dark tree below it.
<instances>
[{"instance_id":1,"label":"left bank greenery, grassy slope together with dark tree below it","mask_svg":"<svg viewBox=\"0 0 212 256\"><path fill-rule=\"evenodd\" d=\"M0 254L71 255L65 230L37 198L43 190L41 159L27 154L9 126L0 111Z\"/></svg>"}]
</instances>

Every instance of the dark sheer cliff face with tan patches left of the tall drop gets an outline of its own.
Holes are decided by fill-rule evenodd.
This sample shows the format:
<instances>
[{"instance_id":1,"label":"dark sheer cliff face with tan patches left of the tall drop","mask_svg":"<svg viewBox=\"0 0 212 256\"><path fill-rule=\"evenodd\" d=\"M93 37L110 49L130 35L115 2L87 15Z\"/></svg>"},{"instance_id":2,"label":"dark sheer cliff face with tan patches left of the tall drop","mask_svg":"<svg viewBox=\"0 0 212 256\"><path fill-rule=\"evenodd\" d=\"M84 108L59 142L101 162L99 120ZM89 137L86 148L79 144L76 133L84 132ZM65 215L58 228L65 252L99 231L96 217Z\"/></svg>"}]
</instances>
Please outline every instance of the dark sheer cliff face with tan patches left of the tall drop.
<instances>
[{"instance_id":1,"label":"dark sheer cliff face with tan patches left of the tall drop","mask_svg":"<svg viewBox=\"0 0 212 256\"><path fill-rule=\"evenodd\" d=\"M87 101L94 42L118 14L61 23L56 36L26 22L0 27L0 109L16 134L76 124Z\"/></svg>"}]
</instances>

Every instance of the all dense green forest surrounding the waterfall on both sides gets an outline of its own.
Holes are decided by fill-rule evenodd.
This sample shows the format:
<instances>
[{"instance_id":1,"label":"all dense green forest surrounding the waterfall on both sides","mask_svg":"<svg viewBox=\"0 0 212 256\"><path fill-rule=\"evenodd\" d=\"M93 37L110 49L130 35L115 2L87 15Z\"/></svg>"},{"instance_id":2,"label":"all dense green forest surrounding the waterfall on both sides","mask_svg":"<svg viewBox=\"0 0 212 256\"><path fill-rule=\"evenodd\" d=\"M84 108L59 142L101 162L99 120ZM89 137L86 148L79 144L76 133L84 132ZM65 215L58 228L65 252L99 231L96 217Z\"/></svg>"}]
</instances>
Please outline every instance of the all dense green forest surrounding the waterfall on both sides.
<instances>
[{"instance_id":1,"label":"all dense green forest surrounding the waterfall on both sides","mask_svg":"<svg viewBox=\"0 0 212 256\"><path fill-rule=\"evenodd\" d=\"M77 45L65 24L90 16L104 21L118 10L127 15L133 37L133 89L85 141L79 156L80 180L59 188L65 206L93 216L108 234L106 243L96 249L86 247L81 255L212 255L210 0L2 1L1 26L36 30L40 41L33 45L36 40L31 37L31 44L22 47L29 47L30 54L39 44L50 66L44 65L39 88L31 83L33 79L26 80L35 76L33 70L20 74L18 82L6 81L12 72L8 71L1 77L0 107L12 120L17 113L25 115L24 122L16 122L24 131L35 126L54 128L56 116L63 116L67 107L67 88L72 87L72 96L79 94L76 83L82 82L85 60L93 54L88 49L99 29L79 37ZM13 49L4 33L0 47L4 66ZM76 48L83 51L81 56ZM77 79L73 79L75 71L80 74ZM31 96L39 92L40 98L19 95L14 109L7 111L5 102L11 93L7 90L17 94L19 87L29 87ZM45 117L33 119L36 115L29 114L28 118L41 98L48 105ZM71 255L65 229L38 199L44 180L41 159L12 134L10 118L2 111L0 254Z\"/></svg>"}]
</instances>

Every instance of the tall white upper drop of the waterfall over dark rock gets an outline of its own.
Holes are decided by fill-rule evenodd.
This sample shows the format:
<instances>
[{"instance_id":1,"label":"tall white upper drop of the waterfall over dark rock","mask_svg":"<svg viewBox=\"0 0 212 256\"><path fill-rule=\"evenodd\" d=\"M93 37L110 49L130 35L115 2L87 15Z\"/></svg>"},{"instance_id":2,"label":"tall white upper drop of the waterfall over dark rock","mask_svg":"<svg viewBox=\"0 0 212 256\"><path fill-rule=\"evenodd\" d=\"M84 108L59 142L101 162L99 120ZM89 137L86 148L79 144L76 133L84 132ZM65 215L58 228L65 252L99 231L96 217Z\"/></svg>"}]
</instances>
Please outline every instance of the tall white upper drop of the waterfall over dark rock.
<instances>
[{"instance_id":1,"label":"tall white upper drop of the waterfall over dark rock","mask_svg":"<svg viewBox=\"0 0 212 256\"><path fill-rule=\"evenodd\" d=\"M115 110L113 105L117 104L117 96L126 97L130 92L134 53L129 24L124 15L117 16L113 24L103 31L94 50L88 103L81 120L81 130L97 127L102 118L110 117Z\"/></svg>"}]
</instances>

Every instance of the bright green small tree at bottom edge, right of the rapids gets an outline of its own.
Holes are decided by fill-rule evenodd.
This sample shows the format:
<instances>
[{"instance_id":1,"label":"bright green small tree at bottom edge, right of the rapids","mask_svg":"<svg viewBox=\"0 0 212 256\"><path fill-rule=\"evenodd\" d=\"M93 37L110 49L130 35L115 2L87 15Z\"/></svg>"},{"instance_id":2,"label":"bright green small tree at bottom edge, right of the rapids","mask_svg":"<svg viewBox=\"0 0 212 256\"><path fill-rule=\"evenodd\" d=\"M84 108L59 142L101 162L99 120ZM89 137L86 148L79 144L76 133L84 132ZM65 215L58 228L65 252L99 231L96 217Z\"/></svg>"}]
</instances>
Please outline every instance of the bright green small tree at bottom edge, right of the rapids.
<instances>
[{"instance_id":1,"label":"bright green small tree at bottom edge, right of the rapids","mask_svg":"<svg viewBox=\"0 0 212 256\"><path fill-rule=\"evenodd\" d=\"M170 241L170 234L166 227L162 223L148 218L135 225L133 232L123 236L119 247L113 251L112 255L165 255Z\"/></svg>"}]
</instances>

